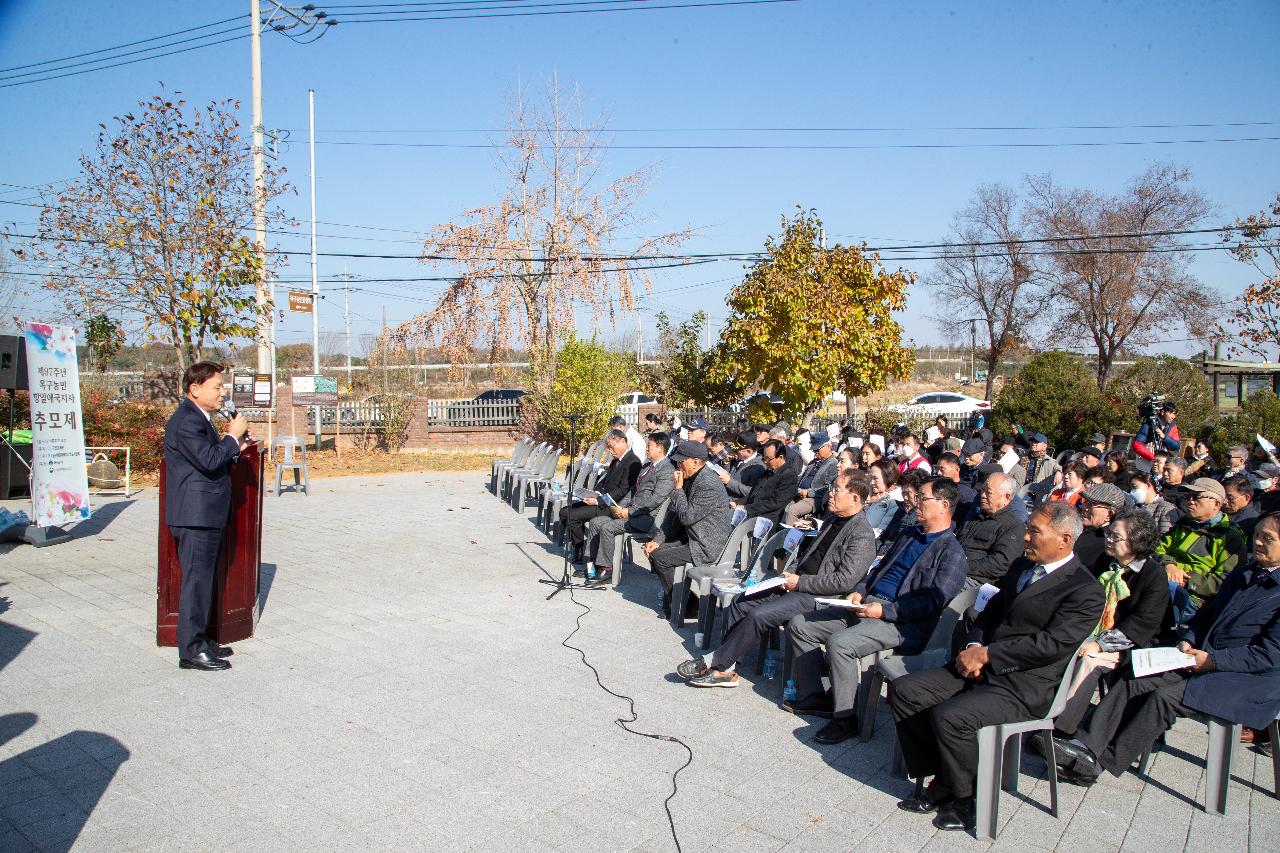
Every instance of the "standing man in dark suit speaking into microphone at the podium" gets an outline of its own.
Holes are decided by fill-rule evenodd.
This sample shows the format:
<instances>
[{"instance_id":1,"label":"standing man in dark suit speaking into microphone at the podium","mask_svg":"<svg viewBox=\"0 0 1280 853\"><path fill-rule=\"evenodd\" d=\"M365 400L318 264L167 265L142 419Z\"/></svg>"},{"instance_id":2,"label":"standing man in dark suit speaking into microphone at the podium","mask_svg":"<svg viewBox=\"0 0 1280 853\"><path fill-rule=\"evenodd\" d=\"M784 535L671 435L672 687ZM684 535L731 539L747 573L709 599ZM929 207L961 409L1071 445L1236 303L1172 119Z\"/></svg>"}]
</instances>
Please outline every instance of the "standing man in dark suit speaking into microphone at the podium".
<instances>
[{"instance_id":1,"label":"standing man in dark suit speaking into microphone at the podium","mask_svg":"<svg viewBox=\"0 0 1280 853\"><path fill-rule=\"evenodd\" d=\"M219 437L210 415L221 407L223 368L197 361L182 375L187 396L164 428L165 524L178 546L182 594L178 598L178 666L228 670L229 648L205 631L214 605L214 575L230 517L230 464L244 447L248 421L232 419Z\"/></svg>"}]
</instances>

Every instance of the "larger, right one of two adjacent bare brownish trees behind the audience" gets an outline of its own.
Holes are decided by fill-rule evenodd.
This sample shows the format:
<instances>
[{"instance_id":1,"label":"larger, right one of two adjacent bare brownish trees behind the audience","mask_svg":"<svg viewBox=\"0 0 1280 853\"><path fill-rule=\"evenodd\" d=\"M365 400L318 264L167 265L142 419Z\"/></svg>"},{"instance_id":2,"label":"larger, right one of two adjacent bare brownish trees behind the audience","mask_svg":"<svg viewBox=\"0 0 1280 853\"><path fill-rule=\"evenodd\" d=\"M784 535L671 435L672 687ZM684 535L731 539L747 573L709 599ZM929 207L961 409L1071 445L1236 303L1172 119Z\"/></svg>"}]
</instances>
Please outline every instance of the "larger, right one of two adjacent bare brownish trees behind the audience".
<instances>
[{"instance_id":1,"label":"larger, right one of two adjacent bare brownish trees behind the audience","mask_svg":"<svg viewBox=\"0 0 1280 853\"><path fill-rule=\"evenodd\" d=\"M1121 348L1138 348L1174 330L1203 336L1216 295L1188 272L1178 232L1210 213L1190 173L1153 165L1117 195L1071 190L1051 175L1027 179L1029 216L1043 248L1047 320L1052 339L1083 329L1106 388Z\"/></svg>"}]
</instances>

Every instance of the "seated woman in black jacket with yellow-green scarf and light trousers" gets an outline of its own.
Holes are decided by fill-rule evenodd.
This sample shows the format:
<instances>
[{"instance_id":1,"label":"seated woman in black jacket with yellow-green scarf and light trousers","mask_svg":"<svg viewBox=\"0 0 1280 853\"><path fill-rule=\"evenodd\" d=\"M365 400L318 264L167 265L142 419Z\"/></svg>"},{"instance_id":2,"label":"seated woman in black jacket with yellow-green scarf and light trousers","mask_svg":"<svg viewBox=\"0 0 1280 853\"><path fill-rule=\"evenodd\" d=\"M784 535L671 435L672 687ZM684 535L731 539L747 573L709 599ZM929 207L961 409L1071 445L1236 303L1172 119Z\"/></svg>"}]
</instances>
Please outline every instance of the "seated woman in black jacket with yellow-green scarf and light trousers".
<instances>
[{"instance_id":1,"label":"seated woman in black jacket with yellow-green scarf and light trousers","mask_svg":"<svg viewBox=\"0 0 1280 853\"><path fill-rule=\"evenodd\" d=\"M1071 697L1056 720L1059 736L1075 734L1089 710L1093 689L1119 667L1129 649L1148 648L1162 640L1171 644L1174 613L1169 578L1164 566L1151 558L1156 542L1156 521L1134 507L1116 514L1107 528L1105 546L1111 561L1100 562L1106 569L1098 575L1107 603L1097 628L1080 648L1084 666L1075 674Z\"/></svg>"}]
</instances>

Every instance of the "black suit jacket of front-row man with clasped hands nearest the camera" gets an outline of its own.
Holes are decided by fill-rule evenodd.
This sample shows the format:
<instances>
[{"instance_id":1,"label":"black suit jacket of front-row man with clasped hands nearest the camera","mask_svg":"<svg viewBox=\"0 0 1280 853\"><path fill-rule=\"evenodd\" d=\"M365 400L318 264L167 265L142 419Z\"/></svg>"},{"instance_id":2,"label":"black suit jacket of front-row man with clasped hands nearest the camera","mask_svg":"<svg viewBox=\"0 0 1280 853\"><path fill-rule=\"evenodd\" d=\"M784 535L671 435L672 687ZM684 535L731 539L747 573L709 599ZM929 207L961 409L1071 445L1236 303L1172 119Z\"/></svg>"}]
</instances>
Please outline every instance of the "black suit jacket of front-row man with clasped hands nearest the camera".
<instances>
[{"instance_id":1,"label":"black suit jacket of front-row man with clasped hands nearest the camera","mask_svg":"<svg viewBox=\"0 0 1280 853\"><path fill-rule=\"evenodd\" d=\"M1023 592L1018 581L1033 566L1019 557L1001 579L968 642L987 647L982 680L1021 699L1041 716L1053 702L1068 663L1102 617L1102 584L1074 556Z\"/></svg>"}]
</instances>

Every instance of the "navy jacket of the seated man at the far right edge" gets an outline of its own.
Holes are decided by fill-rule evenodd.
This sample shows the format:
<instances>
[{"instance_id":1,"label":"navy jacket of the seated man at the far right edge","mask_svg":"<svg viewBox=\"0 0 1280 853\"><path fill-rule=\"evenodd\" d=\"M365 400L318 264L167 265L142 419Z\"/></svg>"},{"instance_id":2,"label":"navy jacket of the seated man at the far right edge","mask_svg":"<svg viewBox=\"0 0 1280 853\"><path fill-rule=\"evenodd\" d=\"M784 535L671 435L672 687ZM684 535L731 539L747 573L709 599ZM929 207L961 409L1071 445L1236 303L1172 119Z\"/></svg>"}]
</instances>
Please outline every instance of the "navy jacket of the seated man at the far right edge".
<instances>
[{"instance_id":1,"label":"navy jacket of the seated man at the far right edge","mask_svg":"<svg viewBox=\"0 0 1280 853\"><path fill-rule=\"evenodd\" d=\"M1239 566L1192 617L1183 635L1204 649L1216 672L1193 675L1183 703L1215 717L1265 729L1280 713L1280 580Z\"/></svg>"}]
</instances>

